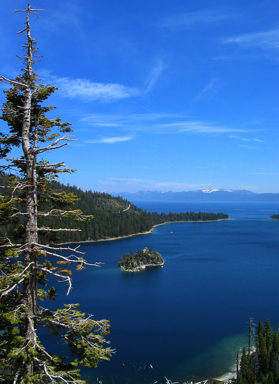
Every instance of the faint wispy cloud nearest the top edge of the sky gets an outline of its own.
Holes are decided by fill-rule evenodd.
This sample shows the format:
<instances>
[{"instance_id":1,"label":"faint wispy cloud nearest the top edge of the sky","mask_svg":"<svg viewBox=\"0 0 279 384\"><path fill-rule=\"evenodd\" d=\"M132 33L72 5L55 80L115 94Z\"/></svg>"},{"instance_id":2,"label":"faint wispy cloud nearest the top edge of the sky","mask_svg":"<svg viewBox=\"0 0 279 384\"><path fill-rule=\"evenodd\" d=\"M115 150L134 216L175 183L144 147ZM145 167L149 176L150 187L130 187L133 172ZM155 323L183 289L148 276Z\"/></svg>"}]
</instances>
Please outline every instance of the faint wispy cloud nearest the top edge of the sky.
<instances>
[{"instance_id":1,"label":"faint wispy cloud nearest the top edge of the sky","mask_svg":"<svg viewBox=\"0 0 279 384\"><path fill-rule=\"evenodd\" d=\"M163 18L159 25L165 28L191 29L196 26L204 27L205 25L216 24L237 16L239 15L223 13L218 10L202 10L169 15Z\"/></svg>"}]
</instances>

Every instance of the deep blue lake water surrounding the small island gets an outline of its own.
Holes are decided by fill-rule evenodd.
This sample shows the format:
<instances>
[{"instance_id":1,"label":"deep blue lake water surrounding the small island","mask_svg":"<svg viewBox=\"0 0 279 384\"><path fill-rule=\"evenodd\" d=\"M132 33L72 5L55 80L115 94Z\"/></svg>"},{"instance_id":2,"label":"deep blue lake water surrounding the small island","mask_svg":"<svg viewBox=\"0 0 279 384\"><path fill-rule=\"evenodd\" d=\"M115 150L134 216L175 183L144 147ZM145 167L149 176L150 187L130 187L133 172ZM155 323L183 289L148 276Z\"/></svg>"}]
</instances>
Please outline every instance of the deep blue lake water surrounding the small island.
<instances>
[{"instance_id":1,"label":"deep blue lake water surrounding the small island","mask_svg":"<svg viewBox=\"0 0 279 384\"><path fill-rule=\"evenodd\" d=\"M224 374L246 344L250 317L279 321L279 221L267 220L279 203L134 203L158 212L223 211L233 220L168 223L148 234L81 244L88 262L104 264L74 272L69 296L60 283L55 305L80 303L96 319L110 319L106 337L117 351L83 378L139 384ZM162 254L163 268L117 267L123 253L144 247Z\"/></svg>"}]
</instances>

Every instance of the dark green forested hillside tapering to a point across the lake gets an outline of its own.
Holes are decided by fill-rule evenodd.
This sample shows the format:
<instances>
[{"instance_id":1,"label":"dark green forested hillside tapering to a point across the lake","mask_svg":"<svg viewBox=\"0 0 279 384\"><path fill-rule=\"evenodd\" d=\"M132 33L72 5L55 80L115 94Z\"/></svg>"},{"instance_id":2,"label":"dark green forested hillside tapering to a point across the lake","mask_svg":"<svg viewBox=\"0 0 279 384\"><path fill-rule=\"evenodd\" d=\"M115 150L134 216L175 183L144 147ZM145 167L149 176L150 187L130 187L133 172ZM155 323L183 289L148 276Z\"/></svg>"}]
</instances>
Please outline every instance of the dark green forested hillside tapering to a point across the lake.
<instances>
[{"instance_id":1,"label":"dark green forested hillside tapering to a point across the lake","mask_svg":"<svg viewBox=\"0 0 279 384\"><path fill-rule=\"evenodd\" d=\"M0 185L8 185L8 177L1 175ZM38 222L44 222L50 228L73 228L81 229L79 232L55 232L53 241L58 242L79 242L100 239L110 239L128 236L135 233L146 232L154 225L163 224L170 221L212 221L228 219L228 215L223 213L212 214L205 212L186 212L158 214L157 212L147 212L137 208L136 205L123 200L122 197L112 197L106 193L83 191L76 186L69 184L63 185L59 182L51 185L55 192L65 191L77 196L78 200L71 206L71 209L80 209L85 215L93 215L94 218L89 222L75 221L71 218L57 218L49 216L40 218ZM6 188L7 189L7 188ZM2 193L7 193L3 188ZM46 224L47 221L47 224ZM19 234L20 230L18 231ZM55 238L54 238L55 236Z\"/></svg>"}]
</instances>

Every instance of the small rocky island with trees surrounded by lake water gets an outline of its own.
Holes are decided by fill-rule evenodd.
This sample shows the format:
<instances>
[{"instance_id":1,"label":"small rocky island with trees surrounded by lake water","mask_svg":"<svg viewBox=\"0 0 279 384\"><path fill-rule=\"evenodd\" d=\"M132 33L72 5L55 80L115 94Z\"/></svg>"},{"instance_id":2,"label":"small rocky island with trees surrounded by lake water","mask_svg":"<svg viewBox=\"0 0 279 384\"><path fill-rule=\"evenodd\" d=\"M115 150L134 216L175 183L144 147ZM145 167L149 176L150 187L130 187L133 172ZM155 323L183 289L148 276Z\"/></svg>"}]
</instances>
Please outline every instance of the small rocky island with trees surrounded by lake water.
<instances>
[{"instance_id":1,"label":"small rocky island with trees surrounded by lake water","mask_svg":"<svg viewBox=\"0 0 279 384\"><path fill-rule=\"evenodd\" d=\"M147 266L162 266L165 263L159 252L151 248L138 250L138 253L124 253L117 263L123 271L138 272Z\"/></svg>"}]
</instances>

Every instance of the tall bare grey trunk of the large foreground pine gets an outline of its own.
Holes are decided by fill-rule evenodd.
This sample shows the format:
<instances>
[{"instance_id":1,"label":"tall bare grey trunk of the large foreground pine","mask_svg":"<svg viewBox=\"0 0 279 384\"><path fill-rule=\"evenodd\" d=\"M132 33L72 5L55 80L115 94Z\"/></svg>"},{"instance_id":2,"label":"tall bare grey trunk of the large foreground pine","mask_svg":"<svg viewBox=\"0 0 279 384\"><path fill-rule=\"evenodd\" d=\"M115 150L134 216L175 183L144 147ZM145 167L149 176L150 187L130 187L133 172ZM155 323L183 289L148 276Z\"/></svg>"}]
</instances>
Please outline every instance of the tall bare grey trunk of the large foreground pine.
<instances>
[{"instance_id":1,"label":"tall bare grey trunk of the large foreground pine","mask_svg":"<svg viewBox=\"0 0 279 384\"><path fill-rule=\"evenodd\" d=\"M30 7L28 5L26 17L26 32L28 37L26 90L23 107L22 148L26 162L26 226L25 226L25 251L24 264L29 267L29 275L23 284L23 304L26 307L20 335L26 340L26 346L32 346L35 340L36 314L37 314L37 256L33 244L38 243L37 235L37 180L36 180L36 139L33 147L30 144L31 127L31 100L32 100L32 64L33 64L33 39L30 35L29 25ZM36 136L36 135L34 135ZM27 361L27 373L33 373L33 363Z\"/></svg>"}]
</instances>

